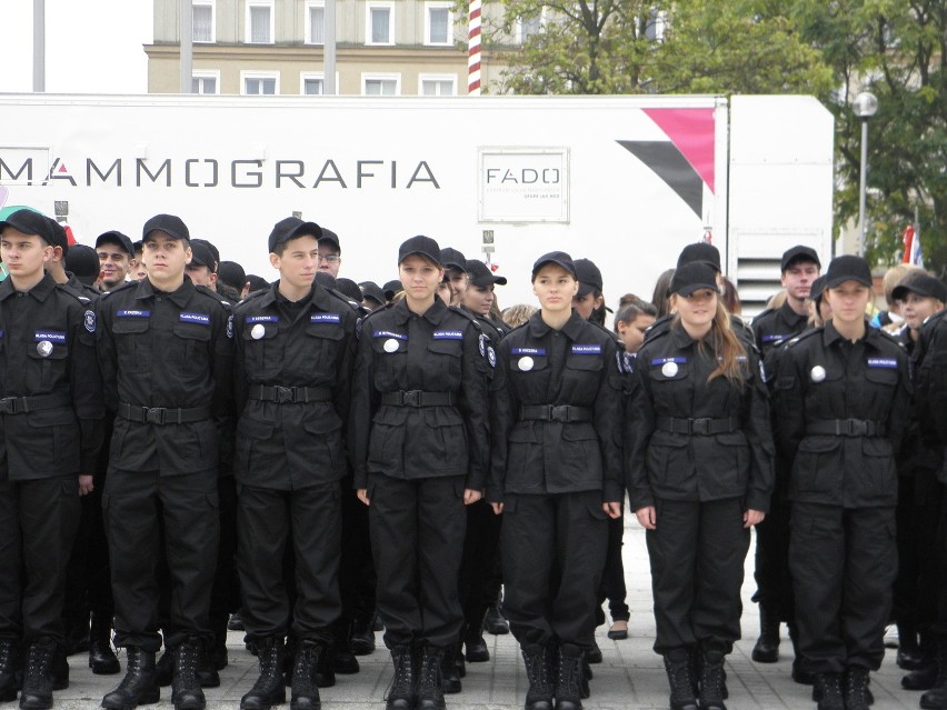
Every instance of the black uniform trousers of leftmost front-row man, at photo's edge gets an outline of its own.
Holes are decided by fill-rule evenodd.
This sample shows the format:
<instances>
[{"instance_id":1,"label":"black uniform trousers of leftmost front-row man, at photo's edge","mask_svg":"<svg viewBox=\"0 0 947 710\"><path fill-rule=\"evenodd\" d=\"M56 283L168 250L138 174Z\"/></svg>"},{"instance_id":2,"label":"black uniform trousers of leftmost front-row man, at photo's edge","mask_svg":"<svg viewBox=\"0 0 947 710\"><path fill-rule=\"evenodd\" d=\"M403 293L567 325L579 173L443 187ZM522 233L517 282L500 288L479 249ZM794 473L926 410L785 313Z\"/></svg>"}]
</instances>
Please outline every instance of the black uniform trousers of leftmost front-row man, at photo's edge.
<instances>
[{"instance_id":1,"label":"black uniform trousers of leftmost front-row man, at photo's edge","mask_svg":"<svg viewBox=\"0 0 947 710\"><path fill-rule=\"evenodd\" d=\"M79 526L76 476L0 481L0 636L62 641L66 568Z\"/></svg>"}]
</instances>

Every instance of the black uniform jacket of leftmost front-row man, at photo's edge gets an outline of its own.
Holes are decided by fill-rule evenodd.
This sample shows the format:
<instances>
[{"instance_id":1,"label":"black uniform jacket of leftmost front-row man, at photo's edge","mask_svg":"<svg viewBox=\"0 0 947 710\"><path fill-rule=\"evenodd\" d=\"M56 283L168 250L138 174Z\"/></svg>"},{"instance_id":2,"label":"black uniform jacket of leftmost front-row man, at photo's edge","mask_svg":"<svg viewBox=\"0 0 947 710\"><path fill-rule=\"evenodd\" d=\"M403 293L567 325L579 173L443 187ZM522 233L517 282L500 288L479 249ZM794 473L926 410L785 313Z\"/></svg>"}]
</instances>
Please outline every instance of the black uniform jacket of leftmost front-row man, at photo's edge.
<instances>
[{"instance_id":1,"label":"black uniform jacket of leftmost front-row man, at photo's edge","mask_svg":"<svg viewBox=\"0 0 947 710\"><path fill-rule=\"evenodd\" d=\"M89 299L48 273L24 292L0 282L0 481L96 472L106 410L94 332Z\"/></svg>"}]
</instances>

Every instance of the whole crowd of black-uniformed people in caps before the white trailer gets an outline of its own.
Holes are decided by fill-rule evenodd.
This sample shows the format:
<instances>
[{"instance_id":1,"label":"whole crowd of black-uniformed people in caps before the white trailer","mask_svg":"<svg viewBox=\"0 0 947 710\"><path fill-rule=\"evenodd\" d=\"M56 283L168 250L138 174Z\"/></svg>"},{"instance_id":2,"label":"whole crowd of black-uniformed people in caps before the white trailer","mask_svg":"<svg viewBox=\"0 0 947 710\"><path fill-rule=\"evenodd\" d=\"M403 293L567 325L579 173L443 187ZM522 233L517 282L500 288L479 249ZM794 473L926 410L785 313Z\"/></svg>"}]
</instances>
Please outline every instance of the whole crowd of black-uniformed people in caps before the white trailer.
<instances>
[{"instance_id":1,"label":"whole crowd of black-uniformed people in caps before the white trailer","mask_svg":"<svg viewBox=\"0 0 947 710\"><path fill-rule=\"evenodd\" d=\"M817 708L865 710L895 623L947 708L940 280L895 267L878 311L864 259L796 246L748 322L709 243L615 311L550 251L502 310L507 277L429 237L382 286L315 222L259 242L278 279L171 214L94 247L0 222L0 702L47 710L68 656L123 648L103 708L202 710L242 630L241 709L318 710L383 629L388 710L443 710L485 632L526 710L581 710L606 604L628 638L627 508L672 710L725 710L754 528L754 661L786 623Z\"/></svg>"}]
</instances>

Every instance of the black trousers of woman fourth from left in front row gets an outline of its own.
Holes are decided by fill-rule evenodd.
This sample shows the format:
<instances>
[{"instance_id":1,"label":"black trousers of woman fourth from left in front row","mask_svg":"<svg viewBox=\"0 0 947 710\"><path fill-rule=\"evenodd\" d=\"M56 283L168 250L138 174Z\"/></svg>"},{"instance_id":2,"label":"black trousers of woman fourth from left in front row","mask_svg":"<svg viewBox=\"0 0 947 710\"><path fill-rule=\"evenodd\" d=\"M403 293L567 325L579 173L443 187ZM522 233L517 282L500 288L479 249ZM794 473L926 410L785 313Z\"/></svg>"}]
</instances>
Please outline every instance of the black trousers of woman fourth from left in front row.
<instances>
[{"instance_id":1,"label":"black trousers of woman fourth from left in front row","mask_svg":"<svg viewBox=\"0 0 947 710\"><path fill-rule=\"evenodd\" d=\"M448 648L460 637L463 484L462 476L406 480L369 474L376 604L389 649L418 642Z\"/></svg>"}]
</instances>

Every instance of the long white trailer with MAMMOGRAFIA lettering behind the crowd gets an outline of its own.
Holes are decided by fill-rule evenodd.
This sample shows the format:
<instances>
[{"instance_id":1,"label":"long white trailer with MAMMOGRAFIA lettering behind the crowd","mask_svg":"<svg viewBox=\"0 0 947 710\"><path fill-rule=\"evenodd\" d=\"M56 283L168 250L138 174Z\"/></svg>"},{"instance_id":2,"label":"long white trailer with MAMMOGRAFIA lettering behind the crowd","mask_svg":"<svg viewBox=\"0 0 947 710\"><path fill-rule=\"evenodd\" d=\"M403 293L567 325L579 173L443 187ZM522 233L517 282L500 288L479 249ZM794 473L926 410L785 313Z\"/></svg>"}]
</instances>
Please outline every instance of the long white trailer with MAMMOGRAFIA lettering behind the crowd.
<instances>
[{"instance_id":1,"label":"long white trailer with MAMMOGRAFIA lettering behind the crowd","mask_svg":"<svg viewBox=\"0 0 947 710\"><path fill-rule=\"evenodd\" d=\"M833 118L810 97L333 98L0 94L0 209L132 240L179 214L223 259L275 278L266 237L292 213L335 230L340 276L396 278L428 234L510 279L561 249L606 297L649 297L710 239L755 312L795 243L833 242Z\"/></svg>"}]
</instances>

